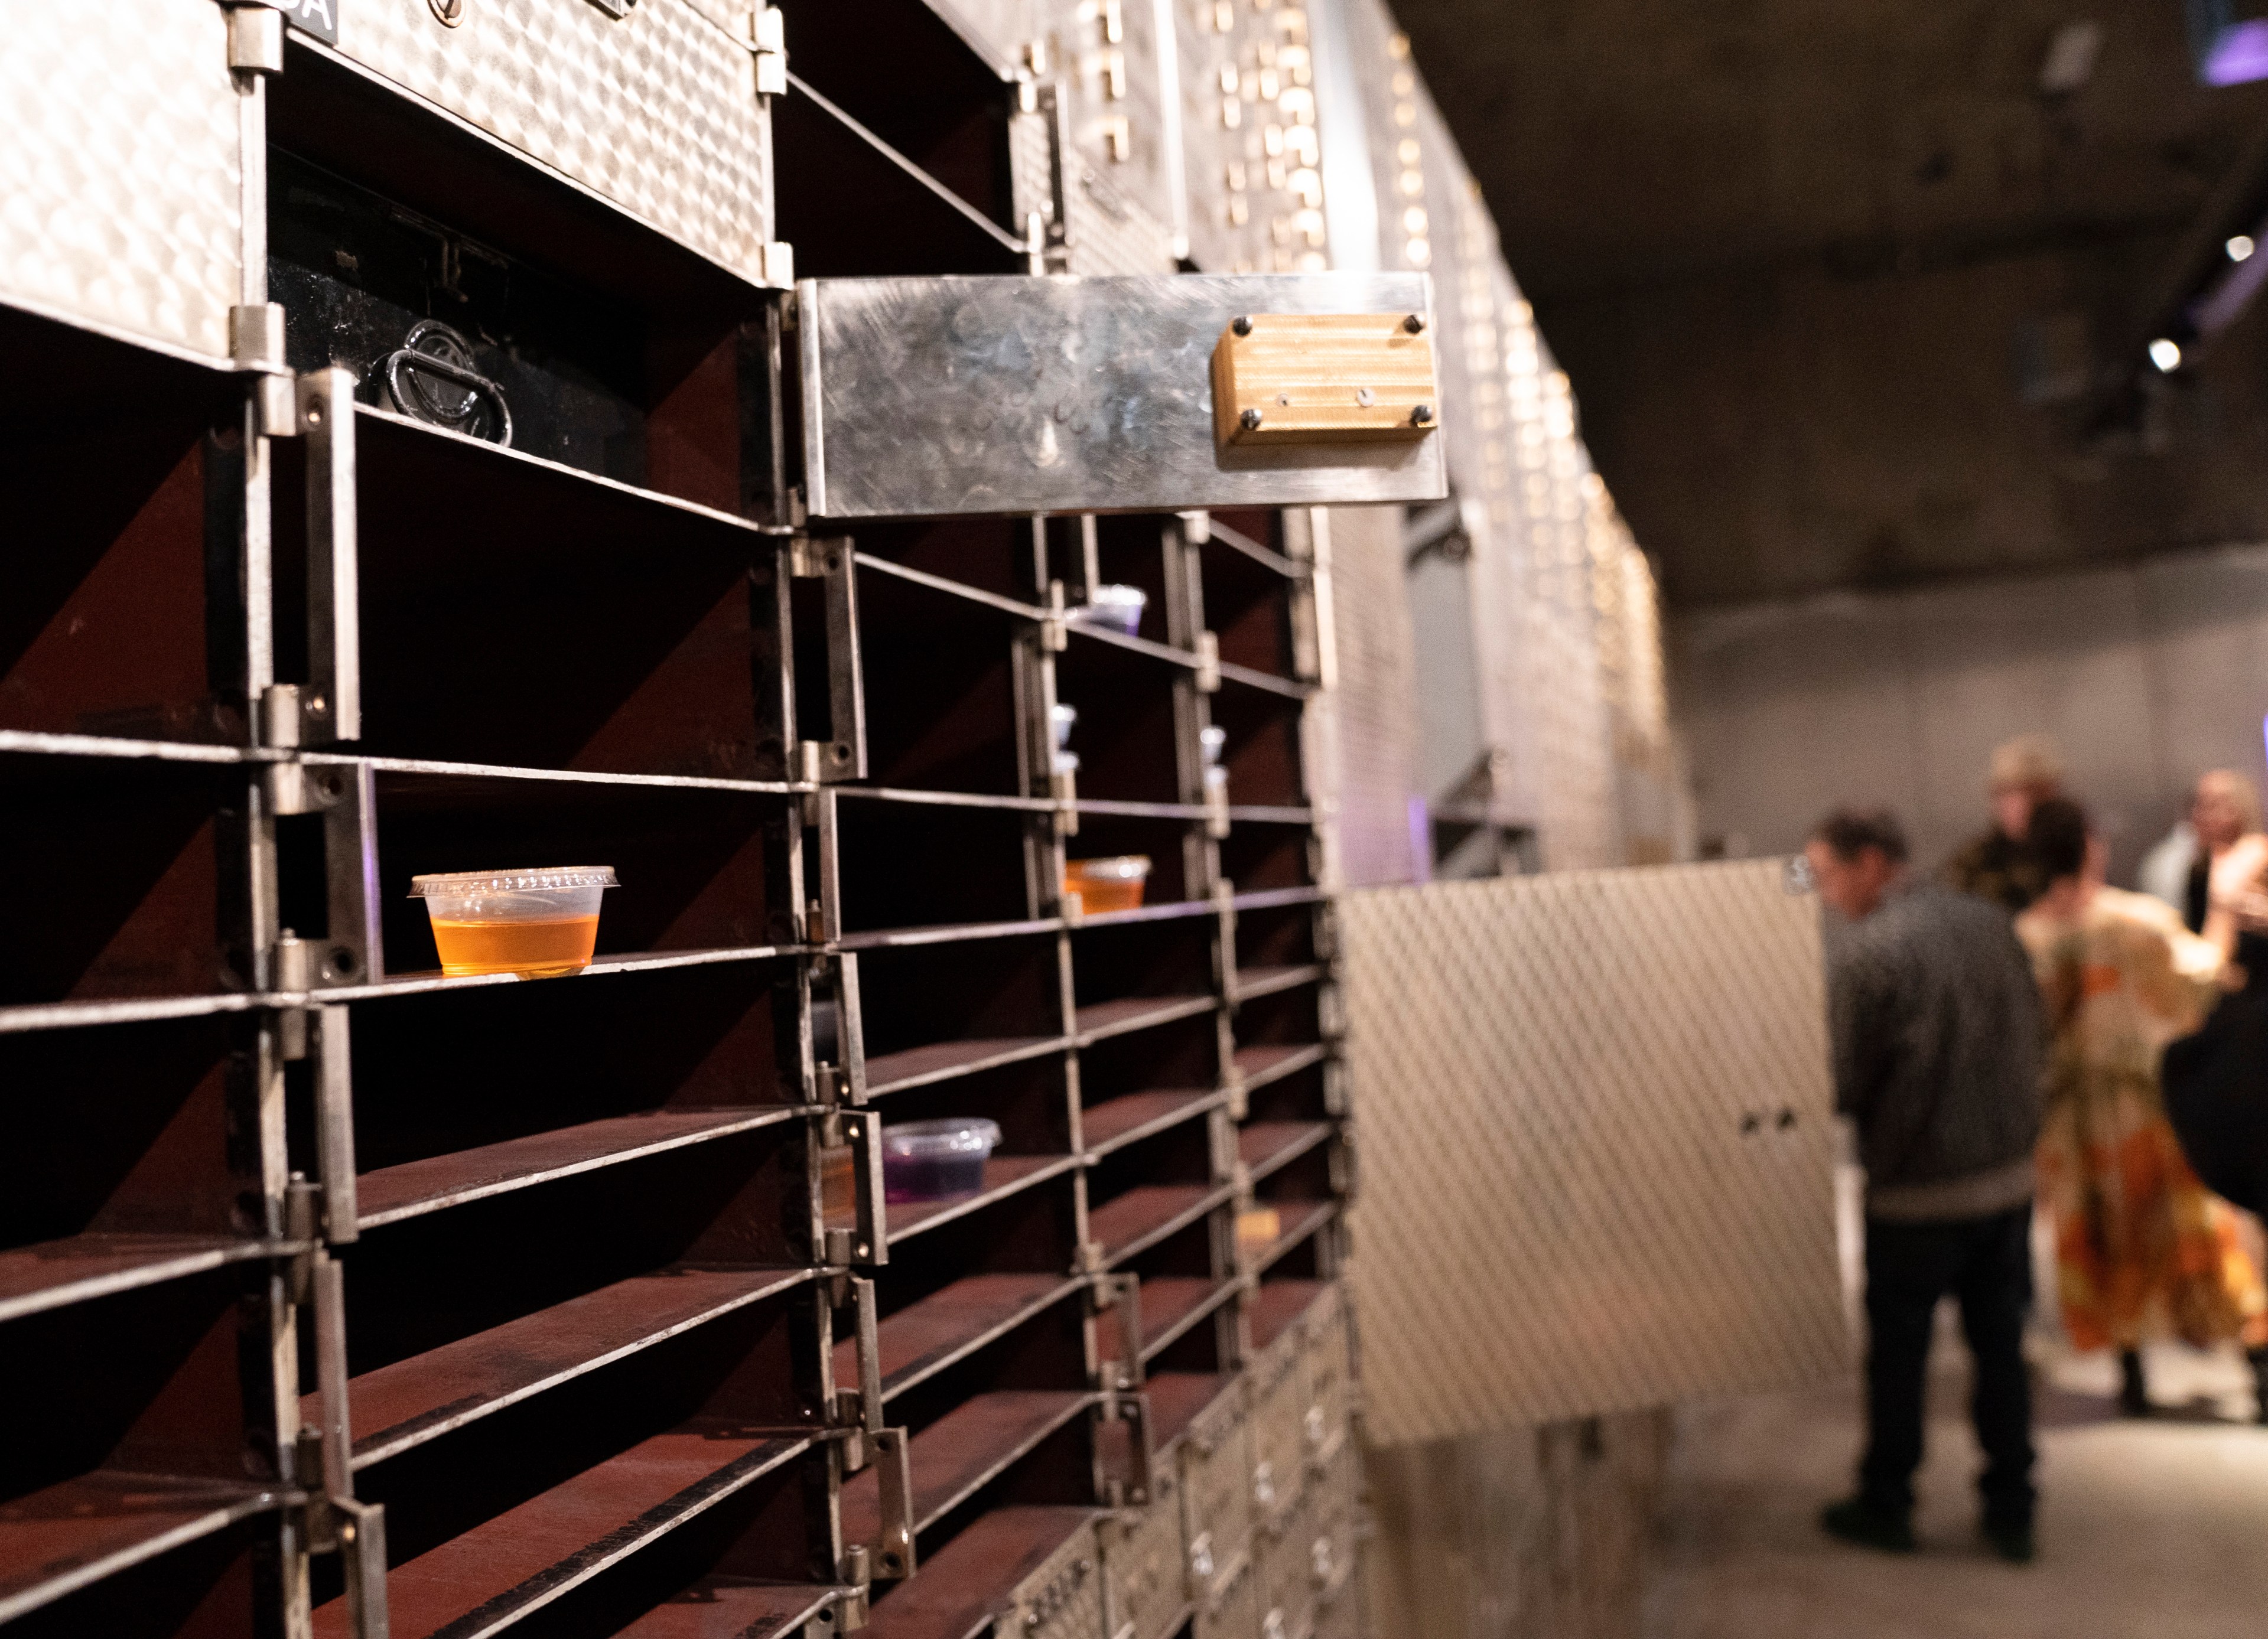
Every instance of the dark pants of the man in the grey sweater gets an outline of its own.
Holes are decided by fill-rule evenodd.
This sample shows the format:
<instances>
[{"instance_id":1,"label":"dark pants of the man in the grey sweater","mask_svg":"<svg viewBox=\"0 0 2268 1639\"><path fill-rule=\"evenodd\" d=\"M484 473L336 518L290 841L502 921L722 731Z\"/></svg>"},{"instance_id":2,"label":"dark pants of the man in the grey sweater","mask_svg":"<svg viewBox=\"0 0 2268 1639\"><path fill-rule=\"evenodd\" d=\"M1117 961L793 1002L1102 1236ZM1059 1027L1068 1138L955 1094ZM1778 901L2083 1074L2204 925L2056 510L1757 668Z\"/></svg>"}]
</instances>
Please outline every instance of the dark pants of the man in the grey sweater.
<instances>
[{"instance_id":1,"label":"dark pants of the man in the grey sweater","mask_svg":"<svg viewBox=\"0 0 2268 1639\"><path fill-rule=\"evenodd\" d=\"M1975 1360L1971 1412L1984 1449L1984 1517L2032 1521L2032 1383L2023 1317L2032 1306L2032 1204L1941 1224L1867 1220L1867 1458L1860 1494L1878 1510L1914 1508L1921 1396L1937 1299L1960 1299Z\"/></svg>"}]
</instances>

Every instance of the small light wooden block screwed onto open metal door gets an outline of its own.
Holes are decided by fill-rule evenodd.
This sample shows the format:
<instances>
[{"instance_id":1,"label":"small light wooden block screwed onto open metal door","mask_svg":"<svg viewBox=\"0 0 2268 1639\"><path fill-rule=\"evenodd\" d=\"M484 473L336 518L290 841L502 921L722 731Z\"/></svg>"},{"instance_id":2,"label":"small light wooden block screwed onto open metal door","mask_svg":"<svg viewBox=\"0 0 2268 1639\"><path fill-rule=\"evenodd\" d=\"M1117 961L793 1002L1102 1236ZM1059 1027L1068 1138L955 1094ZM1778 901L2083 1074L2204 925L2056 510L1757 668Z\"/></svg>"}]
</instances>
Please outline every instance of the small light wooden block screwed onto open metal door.
<instances>
[{"instance_id":1,"label":"small light wooden block screwed onto open metal door","mask_svg":"<svg viewBox=\"0 0 2268 1639\"><path fill-rule=\"evenodd\" d=\"M1250 313L1213 345L1222 449L1413 442L1438 424L1420 313Z\"/></svg>"}]
</instances>

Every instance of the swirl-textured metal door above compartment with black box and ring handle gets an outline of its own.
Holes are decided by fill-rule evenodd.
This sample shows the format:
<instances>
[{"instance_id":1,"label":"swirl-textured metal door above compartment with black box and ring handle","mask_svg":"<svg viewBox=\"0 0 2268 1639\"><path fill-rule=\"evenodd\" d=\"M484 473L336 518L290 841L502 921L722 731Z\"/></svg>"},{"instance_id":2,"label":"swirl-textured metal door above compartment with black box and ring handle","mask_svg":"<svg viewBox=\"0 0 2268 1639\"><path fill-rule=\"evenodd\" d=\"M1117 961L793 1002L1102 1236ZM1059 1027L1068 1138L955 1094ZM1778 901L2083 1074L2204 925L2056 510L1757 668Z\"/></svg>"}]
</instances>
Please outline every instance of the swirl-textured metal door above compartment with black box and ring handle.
<instances>
[{"instance_id":1,"label":"swirl-textured metal door above compartment with black box and ring handle","mask_svg":"<svg viewBox=\"0 0 2268 1639\"><path fill-rule=\"evenodd\" d=\"M356 0L338 50L748 279L771 238L755 57L687 0Z\"/></svg>"}]
</instances>

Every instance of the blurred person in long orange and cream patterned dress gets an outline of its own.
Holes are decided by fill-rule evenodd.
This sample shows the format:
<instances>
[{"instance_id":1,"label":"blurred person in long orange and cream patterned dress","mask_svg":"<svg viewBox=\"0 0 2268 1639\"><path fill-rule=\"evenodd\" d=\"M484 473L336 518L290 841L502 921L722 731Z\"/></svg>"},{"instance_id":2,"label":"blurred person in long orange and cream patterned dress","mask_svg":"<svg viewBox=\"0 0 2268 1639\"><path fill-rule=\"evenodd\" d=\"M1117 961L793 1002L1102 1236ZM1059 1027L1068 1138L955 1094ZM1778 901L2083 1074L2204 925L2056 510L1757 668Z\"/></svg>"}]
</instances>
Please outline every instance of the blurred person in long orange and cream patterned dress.
<instances>
[{"instance_id":1,"label":"blurred person in long orange and cream patterned dress","mask_svg":"<svg viewBox=\"0 0 2268 1639\"><path fill-rule=\"evenodd\" d=\"M2016 936L2050 1029L2039 1179L2064 1328L2077 1349L2118 1351L2132 1417L2150 1410L2141 1342L2155 1333L2200 1349L2243 1342L2268 1387L2268 1292L2236 1215L2182 1154L2159 1084L2166 1045L2218 995L2227 945L2146 893L2105 886L2107 850L2075 802L2041 802L2030 841L2048 891Z\"/></svg>"}]
</instances>

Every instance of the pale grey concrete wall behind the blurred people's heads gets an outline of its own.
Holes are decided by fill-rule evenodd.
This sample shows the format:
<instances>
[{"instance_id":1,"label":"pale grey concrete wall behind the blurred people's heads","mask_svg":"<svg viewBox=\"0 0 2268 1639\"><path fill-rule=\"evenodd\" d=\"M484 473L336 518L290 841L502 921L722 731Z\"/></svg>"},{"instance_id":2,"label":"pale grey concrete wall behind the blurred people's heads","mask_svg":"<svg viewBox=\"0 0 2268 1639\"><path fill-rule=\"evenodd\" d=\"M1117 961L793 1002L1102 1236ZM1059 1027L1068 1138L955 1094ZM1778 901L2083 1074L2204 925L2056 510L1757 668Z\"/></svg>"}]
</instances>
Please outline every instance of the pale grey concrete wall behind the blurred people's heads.
<instances>
[{"instance_id":1,"label":"pale grey concrete wall behind the blurred people's heads","mask_svg":"<svg viewBox=\"0 0 2268 1639\"><path fill-rule=\"evenodd\" d=\"M1672 621L1672 669L1699 830L1726 852L1796 848L1864 800L1935 864L1982 825L1994 744L2039 730L2125 880L2200 771L2263 773L2268 546L1699 610Z\"/></svg>"}]
</instances>

